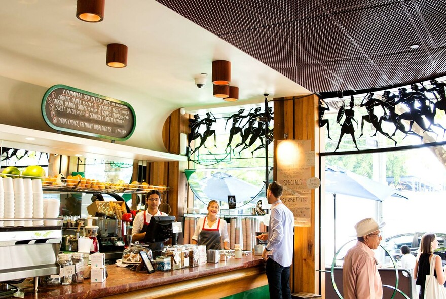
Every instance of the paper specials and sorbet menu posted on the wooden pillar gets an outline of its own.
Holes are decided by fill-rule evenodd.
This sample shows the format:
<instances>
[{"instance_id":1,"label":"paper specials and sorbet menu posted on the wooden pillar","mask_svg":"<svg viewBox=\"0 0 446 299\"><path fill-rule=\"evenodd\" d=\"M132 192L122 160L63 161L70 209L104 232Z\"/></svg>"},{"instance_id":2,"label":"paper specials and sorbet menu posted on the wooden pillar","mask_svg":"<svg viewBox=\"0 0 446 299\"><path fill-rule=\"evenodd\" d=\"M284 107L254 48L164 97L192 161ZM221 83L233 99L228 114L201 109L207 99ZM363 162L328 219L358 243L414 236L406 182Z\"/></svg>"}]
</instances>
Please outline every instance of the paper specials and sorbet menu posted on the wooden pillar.
<instances>
[{"instance_id":1,"label":"paper specials and sorbet menu posted on the wooden pillar","mask_svg":"<svg viewBox=\"0 0 446 299\"><path fill-rule=\"evenodd\" d=\"M312 161L310 140L279 140L277 144L277 181L283 185L282 202L294 215L294 226L308 227L311 220Z\"/></svg>"}]
</instances>

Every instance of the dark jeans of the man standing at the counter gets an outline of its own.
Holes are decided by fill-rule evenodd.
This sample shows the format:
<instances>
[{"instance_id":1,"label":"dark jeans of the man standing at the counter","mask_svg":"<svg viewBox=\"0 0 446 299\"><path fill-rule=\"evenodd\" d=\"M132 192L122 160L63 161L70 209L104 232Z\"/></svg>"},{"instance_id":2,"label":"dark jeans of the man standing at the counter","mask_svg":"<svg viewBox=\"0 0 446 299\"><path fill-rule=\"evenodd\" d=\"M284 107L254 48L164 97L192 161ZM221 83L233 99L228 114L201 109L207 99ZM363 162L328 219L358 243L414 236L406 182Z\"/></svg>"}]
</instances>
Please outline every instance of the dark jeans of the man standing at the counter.
<instances>
[{"instance_id":1,"label":"dark jeans of the man standing at the counter","mask_svg":"<svg viewBox=\"0 0 446 299\"><path fill-rule=\"evenodd\" d=\"M271 299L291 299L289 288L289 267L283 267L271 258L268 258L265 267Z\"/></svg>"}]
</instances>

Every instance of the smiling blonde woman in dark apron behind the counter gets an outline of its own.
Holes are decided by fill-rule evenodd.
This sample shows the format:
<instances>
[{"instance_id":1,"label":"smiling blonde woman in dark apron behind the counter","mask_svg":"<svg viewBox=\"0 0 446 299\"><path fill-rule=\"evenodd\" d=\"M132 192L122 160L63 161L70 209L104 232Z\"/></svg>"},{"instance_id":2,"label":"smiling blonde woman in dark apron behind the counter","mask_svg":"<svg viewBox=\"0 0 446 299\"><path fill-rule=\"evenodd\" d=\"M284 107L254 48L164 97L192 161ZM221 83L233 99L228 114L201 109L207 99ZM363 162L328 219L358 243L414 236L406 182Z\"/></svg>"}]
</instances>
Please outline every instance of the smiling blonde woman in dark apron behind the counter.
<instances>
[{"instance_id":1,"label":"smiling blonde woman in dark apron behind the counter","mask_svg":"<svg viewBox=\"0 0 446 299\"><path fill-rule=\"evenodd\" d=\"M207 206L206 217L198 219L192 244L205 245L206 250L221 250L229 248L228 225L225 220L217 217L220 206L216 200L211 200ZM223 238L224 248L221 248L220 237Z\"/></svg>"}]
</instances>

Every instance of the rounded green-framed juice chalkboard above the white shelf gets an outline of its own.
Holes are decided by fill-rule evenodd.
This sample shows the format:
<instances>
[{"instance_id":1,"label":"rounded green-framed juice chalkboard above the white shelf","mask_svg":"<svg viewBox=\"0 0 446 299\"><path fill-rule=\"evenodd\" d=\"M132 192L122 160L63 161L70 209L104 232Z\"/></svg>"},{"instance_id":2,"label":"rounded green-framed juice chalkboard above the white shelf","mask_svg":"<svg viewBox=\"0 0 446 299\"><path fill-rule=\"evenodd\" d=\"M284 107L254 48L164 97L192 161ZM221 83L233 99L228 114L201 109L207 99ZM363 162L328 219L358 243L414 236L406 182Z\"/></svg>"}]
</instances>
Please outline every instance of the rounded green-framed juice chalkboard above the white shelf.
<instances>
[{"instance_id":1,"label":"rounded green-framed juice chalkboard above the white shelf","mask_svg":"<svg viewBox=\"0 0 446 299\"><path fill-rule=\"evenodd\" d=\"M42 115L55 130L119 141L130 138L136 125L130 104L65 85L47 90Z\"/></svg>"}]
</instances>

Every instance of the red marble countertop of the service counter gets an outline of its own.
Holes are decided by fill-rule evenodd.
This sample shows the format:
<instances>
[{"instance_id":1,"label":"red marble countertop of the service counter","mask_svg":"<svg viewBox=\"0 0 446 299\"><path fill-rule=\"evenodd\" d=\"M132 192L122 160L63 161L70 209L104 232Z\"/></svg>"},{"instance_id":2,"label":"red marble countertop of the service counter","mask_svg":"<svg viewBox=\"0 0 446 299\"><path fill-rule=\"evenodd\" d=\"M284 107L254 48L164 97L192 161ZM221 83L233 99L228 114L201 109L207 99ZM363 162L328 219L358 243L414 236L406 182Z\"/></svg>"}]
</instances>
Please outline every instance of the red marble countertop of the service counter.
<instances>
[{"instance_id":1,"label":"red marble countertop of the service counter","mask_svg":"<svg viewBox=\"0 0 446 299\"><path fill-rule=\"evenodd\" d=\"M214 275L244 269L250 267L262 267L264 260L261 256L254 256L250 253L243 256L242 259L229 258L227 261L219 263L184 268L172 271L156 271L152 274L147 272L134 272L129 268L120 268L116 265L108 265L108 277L103 283L90 283L90 279L85 279L83 283L59 286L39 286L37 294L28 293L26 289L25 299L83 299L100 298L129 291L151 288L160 285L166 285L174 282L194 279L198 277ZM33 285L27 283L20 287L33 288Z\"/></svg>"}]
</instances>

